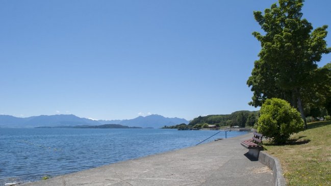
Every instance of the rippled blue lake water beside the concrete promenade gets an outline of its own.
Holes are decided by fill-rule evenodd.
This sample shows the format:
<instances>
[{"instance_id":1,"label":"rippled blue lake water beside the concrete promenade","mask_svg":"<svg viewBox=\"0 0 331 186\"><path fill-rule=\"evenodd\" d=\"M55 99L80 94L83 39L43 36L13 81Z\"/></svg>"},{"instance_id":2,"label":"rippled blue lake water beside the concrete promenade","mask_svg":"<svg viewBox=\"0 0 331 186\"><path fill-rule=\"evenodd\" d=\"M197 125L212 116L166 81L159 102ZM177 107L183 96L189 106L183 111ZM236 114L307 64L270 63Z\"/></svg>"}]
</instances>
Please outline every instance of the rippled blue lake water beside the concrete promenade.
<instances>
[{"instance_id":1,"label":"rippled blue lake water beside the concrete promenade","mask_svg":"<svg viewBox=\"0 0 331 186\"><path fill-rule=\"evenodd\" d=\"M0 185L194 146L213 130L0 128ZM230 131L227 138L247 132ZM225 138L220 132L206 142Z\"/></svg>"}]
</instances>

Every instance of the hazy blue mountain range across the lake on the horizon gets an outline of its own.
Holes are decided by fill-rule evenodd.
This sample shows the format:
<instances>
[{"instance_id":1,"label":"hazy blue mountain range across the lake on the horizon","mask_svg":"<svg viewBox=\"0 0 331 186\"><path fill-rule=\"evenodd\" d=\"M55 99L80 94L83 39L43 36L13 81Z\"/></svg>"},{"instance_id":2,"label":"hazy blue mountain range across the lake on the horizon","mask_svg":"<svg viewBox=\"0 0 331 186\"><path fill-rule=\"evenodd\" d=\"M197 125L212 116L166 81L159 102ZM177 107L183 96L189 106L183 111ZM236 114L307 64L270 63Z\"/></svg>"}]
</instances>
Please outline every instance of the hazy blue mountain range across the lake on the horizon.
<instances>
[{"instance_id":1,"label":"hazy blue mountain range across the lake on the horizon","mask_svg":"<svg viewBox=\"0 0 331 186\"><path fill-rule=\"evenodd\" d=\"M161 128L164 125L176 125L180 123L188 124L189 121L181 118L166 118L161 115L153 114L149 116L139 116L134 119L125 120L92 120L80 118L75 115L52 115L52 116L32 116L28 118L19 118L9 115L0 115L0 127L5 128L33 128L40 126L55 127L55 126L76 126L76 125L104 125L104 124L120 124L130 127L151 127Z\"/></svg>"}]
</instances>

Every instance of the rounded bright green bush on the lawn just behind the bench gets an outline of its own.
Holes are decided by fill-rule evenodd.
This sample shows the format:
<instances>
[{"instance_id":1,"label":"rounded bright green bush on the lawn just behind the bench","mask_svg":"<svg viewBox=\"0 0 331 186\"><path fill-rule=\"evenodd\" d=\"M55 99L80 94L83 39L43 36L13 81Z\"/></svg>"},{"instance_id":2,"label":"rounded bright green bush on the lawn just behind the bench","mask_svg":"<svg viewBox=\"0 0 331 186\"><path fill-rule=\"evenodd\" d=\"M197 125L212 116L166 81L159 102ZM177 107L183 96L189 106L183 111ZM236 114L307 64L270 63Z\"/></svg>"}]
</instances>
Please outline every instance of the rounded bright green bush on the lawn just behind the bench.
<instances>
[{"instance_id":1,"label":"rounded bright green bush on the lawn just behind the bench","mask_svg":"<svg viewBox=\"0 0 331 186\"><path fill-rule=\"evenodd\" d=\"M300 113L283 99L267 99L260 113L258 132L276 144L285 143L292 134L303 130Z\"/></svg>"}]
</instances>

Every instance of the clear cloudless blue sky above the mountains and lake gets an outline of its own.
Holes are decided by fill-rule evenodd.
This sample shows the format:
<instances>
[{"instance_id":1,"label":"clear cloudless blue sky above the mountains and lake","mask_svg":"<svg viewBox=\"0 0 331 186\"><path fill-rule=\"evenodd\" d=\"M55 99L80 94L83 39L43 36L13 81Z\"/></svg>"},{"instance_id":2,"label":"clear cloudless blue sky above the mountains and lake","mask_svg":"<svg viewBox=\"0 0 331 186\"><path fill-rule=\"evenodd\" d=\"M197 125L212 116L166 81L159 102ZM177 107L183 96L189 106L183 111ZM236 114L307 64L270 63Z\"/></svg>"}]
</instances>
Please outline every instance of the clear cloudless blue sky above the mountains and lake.
<instances>
[{"instance_id":1,"label":"clear cloudless blue sky above the mountains and lake","mask_svg":"<svg viewBox=\"0 0 331 186\"><path fill-rule=\"evenodd\" d=\"M246 85L261 49L253 11L275 2L0 0L0 114L191 120L258 110ZM330 32L330 7L307 0L303 17Z\"/></svg>"}]
</instances>

